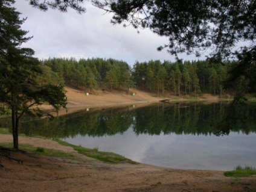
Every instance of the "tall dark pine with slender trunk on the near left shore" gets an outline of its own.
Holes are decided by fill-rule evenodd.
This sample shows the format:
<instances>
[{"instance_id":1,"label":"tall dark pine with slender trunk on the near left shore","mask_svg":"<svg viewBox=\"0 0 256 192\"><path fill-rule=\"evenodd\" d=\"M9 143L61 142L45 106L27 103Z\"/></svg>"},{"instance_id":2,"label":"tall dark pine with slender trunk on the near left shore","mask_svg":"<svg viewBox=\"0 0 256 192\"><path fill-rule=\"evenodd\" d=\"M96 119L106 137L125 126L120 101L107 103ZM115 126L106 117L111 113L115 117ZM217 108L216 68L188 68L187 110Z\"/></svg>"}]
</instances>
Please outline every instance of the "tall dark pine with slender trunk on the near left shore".
<instances>
[{"instance_id":1,"label":"tall dark pine with slender trunk on the near left shore","mask_svg":"<svg viewBox=\"0 0 256 192\"><path fill-rule=\"evenodd\" d=\"M14 0L0 2L0 104L2 111L11 111L13 147L18 149L21 117L42 116L38 106L44 102L59 110L65 107L66 100L62 85L37 82L42 67L32 49L20 47L31 37L25 37L27 31L21 29L25 19L19 19L20 13L11 7L13 4Z\"/></svg>"}]
</instances>

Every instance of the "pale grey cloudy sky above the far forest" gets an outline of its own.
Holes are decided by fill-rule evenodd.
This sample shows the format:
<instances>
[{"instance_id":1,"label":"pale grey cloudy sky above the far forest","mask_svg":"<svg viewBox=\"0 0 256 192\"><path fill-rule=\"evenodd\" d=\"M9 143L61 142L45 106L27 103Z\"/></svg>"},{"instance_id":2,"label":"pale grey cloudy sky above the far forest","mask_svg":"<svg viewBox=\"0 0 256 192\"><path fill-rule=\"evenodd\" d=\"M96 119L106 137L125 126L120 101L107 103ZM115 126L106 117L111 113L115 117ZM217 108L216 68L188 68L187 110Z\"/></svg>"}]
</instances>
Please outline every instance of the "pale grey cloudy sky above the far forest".
<instances>
[{"instance_id":1,"label":"pale grey cloudy sky above the far forest","mask_svg":"<svg viewBox=\"0 0 256 192\"><path fill-rule=\"evenodd\" d=\"M33 36L25 47L36 51L39 59L53 57L114 58L133 65L149 60L170 60L174 57L166 50L156 51L158 46L168 43L166 37L159 37L149 29L138 34L132 27L110 23L111 14L85 4L86 13L78 14L73 10L61 13L58 10L43 12L19 0L15 7L27 20L22 29ZM183 56L183 57L182 57ZM184 60L195 59L193 55L182 55ZM204 58L199 58L203 60Z\"/></svg>"}]
</instances>

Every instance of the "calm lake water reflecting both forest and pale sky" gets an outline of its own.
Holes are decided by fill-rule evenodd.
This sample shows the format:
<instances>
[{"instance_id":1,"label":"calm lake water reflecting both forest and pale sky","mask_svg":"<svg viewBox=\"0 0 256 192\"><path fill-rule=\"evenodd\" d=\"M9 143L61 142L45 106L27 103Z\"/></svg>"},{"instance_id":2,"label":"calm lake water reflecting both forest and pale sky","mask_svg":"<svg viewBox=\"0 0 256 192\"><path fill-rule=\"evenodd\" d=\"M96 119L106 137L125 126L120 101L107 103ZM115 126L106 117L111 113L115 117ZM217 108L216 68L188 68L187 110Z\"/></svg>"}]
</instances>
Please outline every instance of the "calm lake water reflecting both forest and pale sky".
<instances>
[{"instance_id":1,"label":"calm lake water reflecting both forest and pale sky","mask_svg":"<svg viewBox=\"0 0 256 192\"><path fill-rule=\"evenodd\" d=\"M21 132L119 153L140 163L179 169L256 167L256 107L155 104L80 111L22 123Z\"/></svg>"}]
</instances>

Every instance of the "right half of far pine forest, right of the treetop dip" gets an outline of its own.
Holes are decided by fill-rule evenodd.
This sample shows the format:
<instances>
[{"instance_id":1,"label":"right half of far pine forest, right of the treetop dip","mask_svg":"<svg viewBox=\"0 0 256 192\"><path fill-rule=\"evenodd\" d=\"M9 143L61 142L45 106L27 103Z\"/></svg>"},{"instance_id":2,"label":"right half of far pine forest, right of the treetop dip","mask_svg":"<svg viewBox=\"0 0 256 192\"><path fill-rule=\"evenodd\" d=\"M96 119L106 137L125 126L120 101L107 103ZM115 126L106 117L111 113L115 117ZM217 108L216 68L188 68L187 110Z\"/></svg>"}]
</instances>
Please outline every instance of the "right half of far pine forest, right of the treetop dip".
<instances>
[{"instance_id":1,"label":"right half of far pine forest, right of the treetop dip","mask_svg":"<svg viewBox=\"0 0 256 192\"><path fill-rule=\"evenodd\" d=\"M227 86L226 80L229 70L236 65L236 61L217 64L208 61L136 62L133 67L133 78L138 87L156 91L158 94L164 94L164 91L168 90L178 96L197 96L199 93L222 96L225 88L232 91L232 85ZM238 85L237 82L234 83Z\"/></svg>"}]
</instances>

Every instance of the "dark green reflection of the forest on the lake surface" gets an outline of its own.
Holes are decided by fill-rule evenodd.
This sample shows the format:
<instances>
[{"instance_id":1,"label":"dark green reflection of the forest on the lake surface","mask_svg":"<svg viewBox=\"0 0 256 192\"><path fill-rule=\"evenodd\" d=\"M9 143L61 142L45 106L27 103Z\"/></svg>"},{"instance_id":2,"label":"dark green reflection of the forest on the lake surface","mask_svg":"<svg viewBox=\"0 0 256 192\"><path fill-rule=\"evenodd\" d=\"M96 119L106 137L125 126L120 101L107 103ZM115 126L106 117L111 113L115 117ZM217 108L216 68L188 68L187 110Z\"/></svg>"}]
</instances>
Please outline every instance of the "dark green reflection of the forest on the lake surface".
<instances>
[{"instance_id":1,"label":"dark green reflection of the forest on the lake surface","mask_svg":"<svg viewBox=\"0 0 256 192\"><path fill-rule=\"evenodd\" d=\"M76 135L103 137L123 134L129 128L136 135L228 135L230 131L249 134L256 131L255 108L255 105L244 105L233 108L231 112L224 104L179 103L155 104L136 110L126 107L80 111L53 120L27 119L21 122L20 130L26 135L57 138Z\"/></svg>"}]
</instances>

